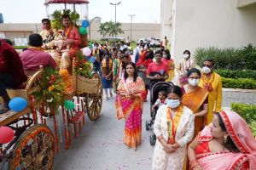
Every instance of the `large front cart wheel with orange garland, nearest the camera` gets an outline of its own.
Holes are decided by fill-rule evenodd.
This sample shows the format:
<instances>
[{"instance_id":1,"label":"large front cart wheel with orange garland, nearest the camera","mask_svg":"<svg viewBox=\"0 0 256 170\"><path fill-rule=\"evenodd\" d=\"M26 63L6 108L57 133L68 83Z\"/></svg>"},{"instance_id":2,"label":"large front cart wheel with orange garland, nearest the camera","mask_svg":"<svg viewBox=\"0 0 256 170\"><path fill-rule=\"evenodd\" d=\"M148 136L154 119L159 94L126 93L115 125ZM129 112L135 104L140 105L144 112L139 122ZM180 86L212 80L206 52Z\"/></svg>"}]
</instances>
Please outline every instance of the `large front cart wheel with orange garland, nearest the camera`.
<instances>
[{"instance_id":1,"label":"large front cart wheel with orange garland, nearest the camera","mask_svg":"<svg viewBox=\"0 0 256 170\"><path fill-rule=\"evenodd\" d=\"M33 125L26 129L14 147L9 169L52 169L55 139L49 127Z\"/></svg>"}]
</instances>

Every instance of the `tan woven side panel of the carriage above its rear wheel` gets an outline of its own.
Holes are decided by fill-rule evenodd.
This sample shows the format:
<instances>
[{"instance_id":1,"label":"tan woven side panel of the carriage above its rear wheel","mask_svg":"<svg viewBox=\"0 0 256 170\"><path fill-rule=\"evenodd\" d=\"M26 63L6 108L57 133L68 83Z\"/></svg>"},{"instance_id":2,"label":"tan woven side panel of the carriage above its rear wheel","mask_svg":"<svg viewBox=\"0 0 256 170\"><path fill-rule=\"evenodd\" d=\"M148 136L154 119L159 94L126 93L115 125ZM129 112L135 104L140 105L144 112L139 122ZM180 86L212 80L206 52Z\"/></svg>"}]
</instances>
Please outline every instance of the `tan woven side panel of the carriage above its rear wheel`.
<instances>
[{"instance_id":1,"label":"tan woven side panel of the carriage above its rear wheel","mask_svg":"<svg viewBox=\"0 0 256 170\"><path fill-rule=\"evenodd\" d=\"M97 94L99 88L98 79L89 79L77 76L77 92L87 94Z\"/></svg>"}]
</instances>

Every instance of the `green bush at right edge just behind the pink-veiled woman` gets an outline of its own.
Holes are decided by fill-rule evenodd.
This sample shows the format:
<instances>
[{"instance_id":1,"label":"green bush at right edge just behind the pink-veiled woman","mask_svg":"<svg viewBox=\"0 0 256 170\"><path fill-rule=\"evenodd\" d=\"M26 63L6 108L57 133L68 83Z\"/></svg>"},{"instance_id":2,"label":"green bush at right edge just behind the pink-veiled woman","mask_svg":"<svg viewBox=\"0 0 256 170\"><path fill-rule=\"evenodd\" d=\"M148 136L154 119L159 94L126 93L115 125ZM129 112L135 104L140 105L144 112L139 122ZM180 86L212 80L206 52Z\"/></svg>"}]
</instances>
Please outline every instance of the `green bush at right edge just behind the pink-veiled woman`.
<instances>
[{"instance_id":1,"label":"green bush at right edge just behind the pink-veiled woman","mask_svg":"<svg viewBox=\"0 0 256 170\"><path fill-rule=\"evenodd\" d=\"M249 125L256 136L256 105L232 103L231 111L238 113Z\"/></svg>"}]
</instances>

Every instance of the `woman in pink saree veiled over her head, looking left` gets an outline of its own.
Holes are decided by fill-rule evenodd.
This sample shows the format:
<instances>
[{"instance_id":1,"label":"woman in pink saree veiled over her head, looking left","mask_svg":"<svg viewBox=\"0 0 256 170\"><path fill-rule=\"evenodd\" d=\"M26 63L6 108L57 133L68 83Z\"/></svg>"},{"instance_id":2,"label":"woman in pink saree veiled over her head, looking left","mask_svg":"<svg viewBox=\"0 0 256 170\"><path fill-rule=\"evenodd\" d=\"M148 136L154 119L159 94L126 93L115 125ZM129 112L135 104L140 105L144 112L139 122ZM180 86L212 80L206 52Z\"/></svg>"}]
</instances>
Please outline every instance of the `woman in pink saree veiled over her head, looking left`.
<instances>
[{"instance_id":1,"label":"woman in pink saree veiled over her head, looking left","mask_svg":"<svg viewBox=\"0 0 256 170\"><path fill-rule=\"evenodd\" d=\"M233 111L214 114L188 148L191 169L256 169L256 140L247 123Z\"/></svg>"}]
</instances>

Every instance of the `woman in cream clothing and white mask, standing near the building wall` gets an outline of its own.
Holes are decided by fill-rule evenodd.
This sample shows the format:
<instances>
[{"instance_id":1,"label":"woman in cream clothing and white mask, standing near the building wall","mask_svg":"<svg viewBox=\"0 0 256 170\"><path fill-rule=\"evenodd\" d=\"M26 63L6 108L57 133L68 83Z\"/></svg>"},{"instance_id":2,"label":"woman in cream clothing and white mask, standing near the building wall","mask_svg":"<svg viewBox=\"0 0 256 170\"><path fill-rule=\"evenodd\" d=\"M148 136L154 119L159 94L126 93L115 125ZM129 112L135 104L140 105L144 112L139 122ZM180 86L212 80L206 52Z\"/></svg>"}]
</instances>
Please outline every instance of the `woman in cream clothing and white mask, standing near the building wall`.
<instances>
[{"instance_id":1,"label":"woman in cream clothing and white mask, standing near the building wall","mask_svg":"<svg viewBox=\"0 0 256 170\"><path fill-rule=\"evenodd\" d=\"M188 77L186 73L192 68L195 68L195 62L193 59L190 58L189 50L185 50L183 52L183 59L181 59L177 65L177 73L179 75L178 80L180 87L188 84Z\"/></svg>"}]
</instances>

